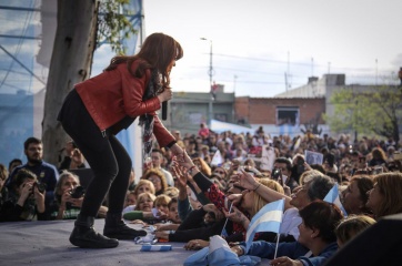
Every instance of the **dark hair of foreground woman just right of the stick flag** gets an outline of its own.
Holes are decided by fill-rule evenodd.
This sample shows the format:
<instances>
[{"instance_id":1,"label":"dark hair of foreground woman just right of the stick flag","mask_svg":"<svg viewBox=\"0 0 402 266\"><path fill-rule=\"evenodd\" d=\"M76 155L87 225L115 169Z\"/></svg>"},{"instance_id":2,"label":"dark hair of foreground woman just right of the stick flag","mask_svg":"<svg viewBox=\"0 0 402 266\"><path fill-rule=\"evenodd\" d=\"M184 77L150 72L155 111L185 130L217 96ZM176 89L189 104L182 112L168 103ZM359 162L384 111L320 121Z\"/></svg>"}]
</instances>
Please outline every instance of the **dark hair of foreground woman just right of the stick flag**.
<instances>
[{"instance_id":1,"label":"dark hair of foreground woman just right of the stick flag","mask_svg":"<svg viewBox=\"0 0 402 266\"><path fill-rule=\"evenodd\" d=\"M299 211L304 226L320 231L319 236L326 243L336 242L335 228L343 219L343 214L336 205L314 201Z\"/></svg>"}]
</instances>

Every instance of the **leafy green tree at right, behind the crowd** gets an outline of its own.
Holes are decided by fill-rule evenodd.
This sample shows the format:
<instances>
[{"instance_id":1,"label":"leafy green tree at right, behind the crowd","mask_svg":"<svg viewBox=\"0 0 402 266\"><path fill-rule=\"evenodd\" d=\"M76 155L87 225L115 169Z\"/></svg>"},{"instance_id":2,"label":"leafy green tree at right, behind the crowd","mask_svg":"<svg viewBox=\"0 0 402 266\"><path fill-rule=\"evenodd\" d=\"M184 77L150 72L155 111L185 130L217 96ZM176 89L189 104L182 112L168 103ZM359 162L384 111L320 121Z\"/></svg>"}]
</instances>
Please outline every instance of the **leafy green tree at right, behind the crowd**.
<instances>
[{"instance_id":1,"label":"leafy green tree at right, behind the crowd","mask_svg":"<svg viewBox=\"0 0 402 266\"><path fill-rule=\"evenodd\" d=\"M390 80L390 79L388 79ZM359 133L375 134L400 140L402 124L402 90L392 84L371 86L364 91L348 86L336 91L330 99L334 115L324 115L332 131L351 129Z\"/></svg>"}]
</instances>

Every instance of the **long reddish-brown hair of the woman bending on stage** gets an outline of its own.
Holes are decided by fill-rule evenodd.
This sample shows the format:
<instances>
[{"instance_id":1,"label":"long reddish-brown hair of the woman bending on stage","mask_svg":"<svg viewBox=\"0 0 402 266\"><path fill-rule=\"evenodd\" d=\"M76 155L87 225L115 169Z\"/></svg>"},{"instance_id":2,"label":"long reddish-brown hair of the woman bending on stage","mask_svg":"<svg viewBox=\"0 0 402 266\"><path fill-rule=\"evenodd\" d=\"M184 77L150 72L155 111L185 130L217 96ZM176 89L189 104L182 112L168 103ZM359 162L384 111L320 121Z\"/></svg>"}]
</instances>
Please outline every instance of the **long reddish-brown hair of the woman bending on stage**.
<instances>
[{"instance_id":1,"label":"long reddish-brown hair of the woman bending on stage","mask_svg":"<svg viewBox=\"0 0 402 266\"><path fill-rule=\"evenodd\" d=\"M119 55L112 58L108 68L104 71L113 70L118 64L127 63L127 68L131 75L142 78L147 69L154 69L162 75L162 90L170 88L170 78L168 65L172 60L179 60L183 57L183 49L170 35L163 33L152 33L143 42L140 51L135 55ZM131 68L135 60L139 65L135 70Z\"/></svg>"}]
</instances>

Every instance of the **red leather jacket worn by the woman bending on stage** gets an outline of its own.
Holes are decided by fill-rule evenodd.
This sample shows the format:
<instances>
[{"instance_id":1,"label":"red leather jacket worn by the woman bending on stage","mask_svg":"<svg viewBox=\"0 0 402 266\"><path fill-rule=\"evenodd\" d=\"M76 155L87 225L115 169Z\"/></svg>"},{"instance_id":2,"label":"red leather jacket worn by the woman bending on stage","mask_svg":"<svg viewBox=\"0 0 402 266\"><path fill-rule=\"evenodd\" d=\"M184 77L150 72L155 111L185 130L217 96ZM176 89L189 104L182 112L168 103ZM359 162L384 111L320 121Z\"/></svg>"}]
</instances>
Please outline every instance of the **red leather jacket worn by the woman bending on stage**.
<instances>
[{"instance_id":1,"label":"red leather jacket worn by the woman bending on stage","mask_svg":"<svg viewBox=\"0 0 402 266\"><path fill-rule=\"evenodd\" d=\"M138 63L132 64L135 69ZM76 84L88 112L101 131L105 131L127 115L135 119L142 114L154 116L153 134L161 146L175 141L174 136L160 122L155 111L161 108L157 96L142 101L151 72L148 70L141 79L130 74L125 63L114 70Z\"/></svg>"}]
</instances>

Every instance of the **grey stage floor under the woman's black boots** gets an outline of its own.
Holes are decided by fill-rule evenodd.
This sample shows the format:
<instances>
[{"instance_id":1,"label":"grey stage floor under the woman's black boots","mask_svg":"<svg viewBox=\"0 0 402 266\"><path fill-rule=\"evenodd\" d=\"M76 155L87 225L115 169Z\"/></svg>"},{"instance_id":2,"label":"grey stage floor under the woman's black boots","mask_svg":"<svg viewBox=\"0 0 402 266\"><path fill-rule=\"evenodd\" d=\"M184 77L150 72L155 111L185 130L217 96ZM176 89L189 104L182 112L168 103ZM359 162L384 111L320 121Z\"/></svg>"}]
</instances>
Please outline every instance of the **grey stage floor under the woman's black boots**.
<instances>
[{"instance_id":1,"label":"grey stage floor under the woman's black boots","mask_svg":"<svg viewBox=\"0 0 402 266\"><path fill-rule=\"evenodd\" d=\"M96 229L103 231L104 219L96 219ZM131 225L130 225L131 226ZM140 252L133 241L120 241L115 248L89 249L70 244L73 221L0 223L0 265L183 265L194 252L184 243L170 252Z\"/></svg>"}]
</instances>

